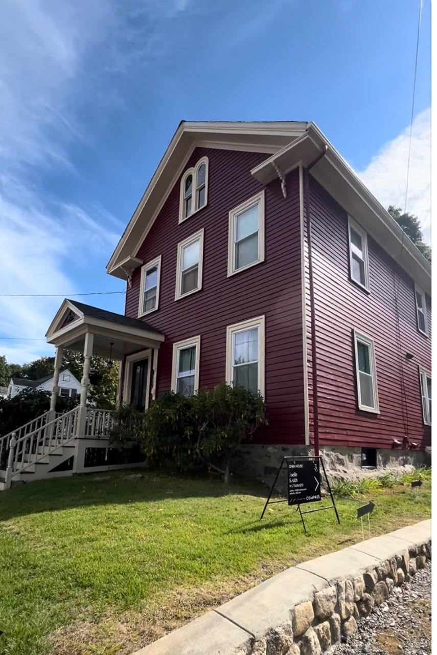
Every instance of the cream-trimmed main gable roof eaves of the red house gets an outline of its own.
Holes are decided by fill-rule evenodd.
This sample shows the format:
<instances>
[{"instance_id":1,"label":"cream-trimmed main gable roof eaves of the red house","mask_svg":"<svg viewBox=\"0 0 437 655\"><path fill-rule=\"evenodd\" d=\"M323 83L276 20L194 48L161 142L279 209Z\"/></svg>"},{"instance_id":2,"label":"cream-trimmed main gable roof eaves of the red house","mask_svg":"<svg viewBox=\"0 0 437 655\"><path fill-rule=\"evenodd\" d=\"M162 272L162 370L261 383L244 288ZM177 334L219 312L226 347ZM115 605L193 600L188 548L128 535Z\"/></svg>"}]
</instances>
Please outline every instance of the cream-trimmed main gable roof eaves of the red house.
<instances>
[{"instance_id":1,"label":"cream-trimmed main gable roof eaves of the red house","mask_svg":"<svg viewBox=\"0 0 437 655\"><path fill-rule=\"evenodd\" d=\"M314 122L182 121L107 264L109 274L126 279L143 264L135 254L198 146L266 153L266 160L251 171L263 184L277 177L277 168L287 174L299 164L307 166L327 147L311 176L430 295L430 263Z\"/></svg>"}]
</instances>

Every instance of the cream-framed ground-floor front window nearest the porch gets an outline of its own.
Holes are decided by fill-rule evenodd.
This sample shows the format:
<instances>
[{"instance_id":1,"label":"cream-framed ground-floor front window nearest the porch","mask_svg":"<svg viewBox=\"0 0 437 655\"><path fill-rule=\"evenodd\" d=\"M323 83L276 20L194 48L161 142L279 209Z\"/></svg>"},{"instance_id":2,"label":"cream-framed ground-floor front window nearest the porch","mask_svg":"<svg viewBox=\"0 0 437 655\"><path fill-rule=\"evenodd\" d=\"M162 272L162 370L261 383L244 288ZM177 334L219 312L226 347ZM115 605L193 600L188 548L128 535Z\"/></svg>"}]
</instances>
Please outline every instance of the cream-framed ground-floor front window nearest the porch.
<instances>
[{"instance_id":1,"label":"cream-framed ground-floor front window nearest the porch","mask_svg":"<svg viewBox=\"0 0 437 655\"><path fill-rule=\"evenodd\" d=\"M171 388L183 396L199 390L200 336L173 343Z\"/></svg>"}]
</instances>

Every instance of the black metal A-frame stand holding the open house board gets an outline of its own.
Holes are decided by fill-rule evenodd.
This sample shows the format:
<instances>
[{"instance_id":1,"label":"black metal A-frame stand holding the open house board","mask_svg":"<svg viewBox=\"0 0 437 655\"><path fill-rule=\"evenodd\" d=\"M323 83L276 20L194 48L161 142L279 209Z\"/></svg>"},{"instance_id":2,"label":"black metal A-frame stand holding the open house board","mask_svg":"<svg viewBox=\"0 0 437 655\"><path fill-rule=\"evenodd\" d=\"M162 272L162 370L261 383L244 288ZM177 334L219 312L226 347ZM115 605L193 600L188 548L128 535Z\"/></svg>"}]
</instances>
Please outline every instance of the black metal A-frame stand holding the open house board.
<instances>
[{"instance_id":1,"label":"black metal A-frame stand holding the open house board","mask_svg":"<svg viewBox=\"0 0 437 655\"><path fill-rule=\"evenodd\" d=\"M323 459L321 455L314 455L313 457L283 457L281 466L277 470L275 481L271 485L270 493L264 505L264 510L260 516L260 520L264 516L268 504L273 504L275 502L285 502L283 500L270 500L273 489L277 483L277 479L281 470L285 464L287 470L287 492L288 492L288 505L296 506L302 520L302 525L304 526L304 531L306 532L304 514L311 514L312 512L322 512L323 510L334 510L336 513L337 521L340 524L340 518L338 516L336 503L334 501L334 496L332 495L331 487L328 481L328 476L326 476L326 470L324 469ZM306 504L307 502L317 502L317 500L322 500L321 496L321 472L323 471L323 476L326 482L326 489L332 500L332 505L326 507L318 507L315 510L306 510L302 512L300 509L301 505Z\"/></svg>"}]
</instances>

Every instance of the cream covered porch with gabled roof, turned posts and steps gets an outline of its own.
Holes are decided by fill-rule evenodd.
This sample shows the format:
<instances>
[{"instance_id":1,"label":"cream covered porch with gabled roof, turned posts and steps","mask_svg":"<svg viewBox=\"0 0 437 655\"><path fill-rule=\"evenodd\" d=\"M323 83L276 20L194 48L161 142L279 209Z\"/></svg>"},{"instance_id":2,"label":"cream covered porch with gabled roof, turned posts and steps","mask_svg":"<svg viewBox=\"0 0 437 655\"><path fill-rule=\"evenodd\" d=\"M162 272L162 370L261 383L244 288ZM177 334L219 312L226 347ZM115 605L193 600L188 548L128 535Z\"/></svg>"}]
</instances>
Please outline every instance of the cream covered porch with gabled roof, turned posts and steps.
<instances>
[{"instance_id":1,"label":"cream covered porch with gabled roof, turned posts and steps","mask_svg":"<svg viewBox=\"0 0 437 655\"><path fill-rule=\"evenodd\" d=\"M156 394L158 350L164 335L147 323L106 310L63 301L46 333L56 346L50 408L46 413L0 438L0 489L14 481L137 466L128 455L116 463L109 434L114 412L87 405L93 356L120 362L117 405L144 411ZM59 377L66 349L84 355L80 403L56 413ZM132 453L131 453L132 455ZM135 455L135 453L133 453ZM132 458L132 457L131 457Z\"/></svg>"}]
</instances>

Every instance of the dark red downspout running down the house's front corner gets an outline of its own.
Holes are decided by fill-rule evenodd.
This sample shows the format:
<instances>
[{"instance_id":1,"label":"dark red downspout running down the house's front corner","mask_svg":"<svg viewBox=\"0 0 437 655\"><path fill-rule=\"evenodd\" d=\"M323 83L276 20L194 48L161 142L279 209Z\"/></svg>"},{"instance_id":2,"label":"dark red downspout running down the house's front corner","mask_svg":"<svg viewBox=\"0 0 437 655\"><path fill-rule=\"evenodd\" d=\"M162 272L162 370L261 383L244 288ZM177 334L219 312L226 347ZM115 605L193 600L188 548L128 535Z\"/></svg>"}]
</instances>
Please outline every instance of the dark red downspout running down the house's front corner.
<instances>
[{"instance_id":1,"label":"dark red downspout running down the house's front corner","mask_svg":"<svg viewBox=\"0 0 437 655\"><path fill-rule=\"evenodd\" d=\"M304 206L306 214L307 243L308 243L308 277L309 277L309 307L311 314L311 360L313 378L313 434L314 434L314 455L319 455L319 396L317 392L317 347L315 335L315 301L314 301L314 278L313 278L313 253L311 244L311 216L309 202L309 171L319 162L326 152L328 146L325 144L319 155L304 168Z\"/></svg>"}]
</instances>

